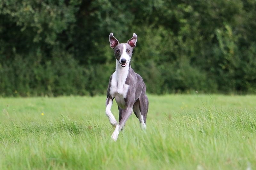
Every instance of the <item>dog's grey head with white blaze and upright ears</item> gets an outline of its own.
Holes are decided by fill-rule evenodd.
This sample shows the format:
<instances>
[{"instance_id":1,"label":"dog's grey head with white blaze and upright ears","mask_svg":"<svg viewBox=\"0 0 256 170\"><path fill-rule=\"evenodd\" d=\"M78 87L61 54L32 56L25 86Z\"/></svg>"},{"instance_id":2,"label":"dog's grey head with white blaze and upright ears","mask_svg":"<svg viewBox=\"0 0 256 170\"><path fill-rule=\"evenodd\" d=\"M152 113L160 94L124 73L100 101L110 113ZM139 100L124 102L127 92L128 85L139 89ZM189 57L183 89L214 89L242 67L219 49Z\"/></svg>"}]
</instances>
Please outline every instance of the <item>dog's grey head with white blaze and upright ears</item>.
<instances>
[{"instance_id":1,"label":"dog's grey head with white blaze and upright ears","mask_svg":"<svg viewBox=\"0 0 256 170\"><path fill-rule=\"evenodd\" d=\"M132 38L127 43L119 44L118 40L113 36L113 33L109 34L110 47L114 49L114 55L116 60L125 67L130 62L132 57L132 49L136 46L137 35L133 33Z\"/></svg>"}]
</instances>

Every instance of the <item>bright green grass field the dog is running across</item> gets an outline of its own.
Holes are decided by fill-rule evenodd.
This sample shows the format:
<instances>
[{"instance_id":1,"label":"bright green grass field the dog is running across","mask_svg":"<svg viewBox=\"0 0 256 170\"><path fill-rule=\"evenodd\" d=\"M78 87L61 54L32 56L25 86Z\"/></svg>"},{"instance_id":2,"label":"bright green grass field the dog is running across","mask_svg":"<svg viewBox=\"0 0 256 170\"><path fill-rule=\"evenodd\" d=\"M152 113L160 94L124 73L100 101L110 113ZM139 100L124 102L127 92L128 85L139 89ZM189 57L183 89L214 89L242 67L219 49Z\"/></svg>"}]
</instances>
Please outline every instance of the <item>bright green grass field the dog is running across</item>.
<instances>
[{"instance_id":1,"label":"bright green grass field the dog is running across","mask_svg":"<svg viewBox=\"0 0 256 170\"><path fill-rule=\"evenodd\" d=\"M0 169L256 168L256 96L148 97L116 142L105 96L0 98Z\"/></svg>"}]
</instances>

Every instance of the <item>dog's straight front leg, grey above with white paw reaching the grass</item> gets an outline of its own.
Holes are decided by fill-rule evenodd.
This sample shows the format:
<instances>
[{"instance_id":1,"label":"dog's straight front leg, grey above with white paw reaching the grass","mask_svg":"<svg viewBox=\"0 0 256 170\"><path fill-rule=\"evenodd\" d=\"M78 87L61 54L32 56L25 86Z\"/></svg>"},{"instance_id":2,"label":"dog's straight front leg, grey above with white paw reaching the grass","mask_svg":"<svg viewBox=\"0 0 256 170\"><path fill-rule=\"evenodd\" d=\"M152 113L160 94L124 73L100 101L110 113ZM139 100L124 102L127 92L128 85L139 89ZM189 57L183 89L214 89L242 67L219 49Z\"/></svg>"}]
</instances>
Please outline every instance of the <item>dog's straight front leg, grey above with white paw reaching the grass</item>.
<instances>
[{"instance_id":1,"label":"dog's straight front leg, grey above with white paw reaching the grass","mask_svg":"<svg viewBox=\"0 0 256 170\"><path fill-rule=\"evenodd\" d=\"M129 116L132 114L132 107L126 107L126 109L121 110L122 113L122 119L120 120L119 124L116 125L116 129L114 130L111 138L116 141L118 134L120 130L124 127L125 122L129 118Z\"/></svg>"}]
</instances>

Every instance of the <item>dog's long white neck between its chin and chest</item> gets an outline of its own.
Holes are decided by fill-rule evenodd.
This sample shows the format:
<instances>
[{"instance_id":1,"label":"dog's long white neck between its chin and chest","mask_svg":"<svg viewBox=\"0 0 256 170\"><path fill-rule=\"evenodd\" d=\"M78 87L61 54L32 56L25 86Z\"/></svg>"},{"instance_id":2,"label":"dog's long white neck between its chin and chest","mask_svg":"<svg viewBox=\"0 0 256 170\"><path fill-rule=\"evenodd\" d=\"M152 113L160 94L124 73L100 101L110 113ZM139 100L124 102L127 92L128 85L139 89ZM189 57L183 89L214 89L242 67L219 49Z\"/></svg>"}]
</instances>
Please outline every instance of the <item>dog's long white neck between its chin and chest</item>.
<instances>
[{"instance_id":1,"label":"dog's long white neck between its chin and chest","mask_svg":"<svg viewBox=\"0 0 256 170\"><path fill-rule=\"evenodd\" d=\"M127 63L125 67L122 67L121 64L116 60L116 78L118 89L122 89L124 87L125 80L128 76L130 67L130 61Z\"/></svg>"}]
</instances>

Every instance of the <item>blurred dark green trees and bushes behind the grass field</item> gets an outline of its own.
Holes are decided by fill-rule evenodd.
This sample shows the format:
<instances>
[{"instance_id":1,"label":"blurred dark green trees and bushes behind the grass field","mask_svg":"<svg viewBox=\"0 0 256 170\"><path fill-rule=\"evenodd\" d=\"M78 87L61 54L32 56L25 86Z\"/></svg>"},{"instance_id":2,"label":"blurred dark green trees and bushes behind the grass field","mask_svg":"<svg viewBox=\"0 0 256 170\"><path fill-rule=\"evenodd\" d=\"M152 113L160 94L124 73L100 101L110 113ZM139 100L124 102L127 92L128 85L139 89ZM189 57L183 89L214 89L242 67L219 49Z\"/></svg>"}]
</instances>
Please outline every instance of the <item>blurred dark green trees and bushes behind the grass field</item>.
<instances>
[{"instance_id":1,"label":"blurred dark green trees and bushes behind the grass field","mask_svg":"<svg viewBox=\"0 0 256 170\"><path fill-rule=\"evenodd\" d=\"M255 0L1 0L0 96L105 94L119 42L148 93L256 93Z\"/></svg>"}]
</instances>

